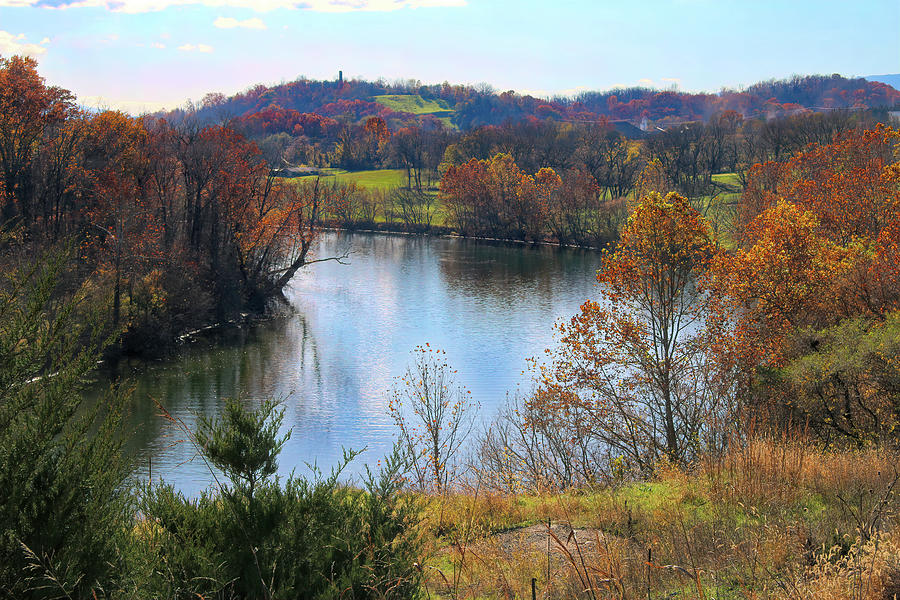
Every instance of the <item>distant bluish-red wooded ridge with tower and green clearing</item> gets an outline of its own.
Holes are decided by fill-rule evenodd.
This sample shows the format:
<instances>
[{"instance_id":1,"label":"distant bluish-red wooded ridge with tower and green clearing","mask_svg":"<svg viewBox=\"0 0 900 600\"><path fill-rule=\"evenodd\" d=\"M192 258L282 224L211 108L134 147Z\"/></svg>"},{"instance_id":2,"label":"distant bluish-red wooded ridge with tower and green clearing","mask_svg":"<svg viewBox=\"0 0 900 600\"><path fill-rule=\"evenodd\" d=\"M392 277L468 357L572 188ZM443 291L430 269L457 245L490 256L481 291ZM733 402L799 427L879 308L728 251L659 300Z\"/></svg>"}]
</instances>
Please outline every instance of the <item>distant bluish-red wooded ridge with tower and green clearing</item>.
<instances>
[{"instance_id":1,"label":"distant bluish-red wooded ridge with tower and green clearing","mask_svg":"<svg viewBox=\"0 0 900 600\"><path fill-rule=\"evenodd\" d=\"M223 118L248 121L260 132L292 135L309 135L307 130L333 133L371 117L384 119L392 130L418 126L466 131L483 125L550 119L627 122L647 129L705 120L726 111L744 118L774 118L806 111L892 107L900 104L897 88L900 75L848 78L835 74L769 80L717 93L635 87L546 99L497 92L485 85L301 78L271 87L256 85L231 97L208 94L198 106L165 116L171 120L190 114L208 122ZM315 126L310 127L311 123Z\"/></svg>"}]
</instances>

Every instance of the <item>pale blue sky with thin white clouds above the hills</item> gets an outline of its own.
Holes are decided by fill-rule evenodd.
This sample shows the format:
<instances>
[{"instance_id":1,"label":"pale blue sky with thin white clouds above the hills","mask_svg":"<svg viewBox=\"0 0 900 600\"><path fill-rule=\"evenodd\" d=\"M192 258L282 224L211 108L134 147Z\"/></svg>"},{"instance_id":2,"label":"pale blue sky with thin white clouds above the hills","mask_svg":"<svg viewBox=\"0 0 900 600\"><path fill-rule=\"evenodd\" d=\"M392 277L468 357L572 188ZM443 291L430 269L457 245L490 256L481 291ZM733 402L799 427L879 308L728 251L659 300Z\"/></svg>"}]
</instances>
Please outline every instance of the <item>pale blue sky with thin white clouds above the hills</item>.
<instances>
[{"instance_id":1,"label":"pale blue sky with thin white clouds above the hills","mask_svg":"<svg viewBox=\"0 0 900 600\"><path fill-rule=\"evenodd\" d=\"M900 73L900 0L0 0L0 55L139 113L298 77L534 95Z\"/></svg>"}]
</instances>

